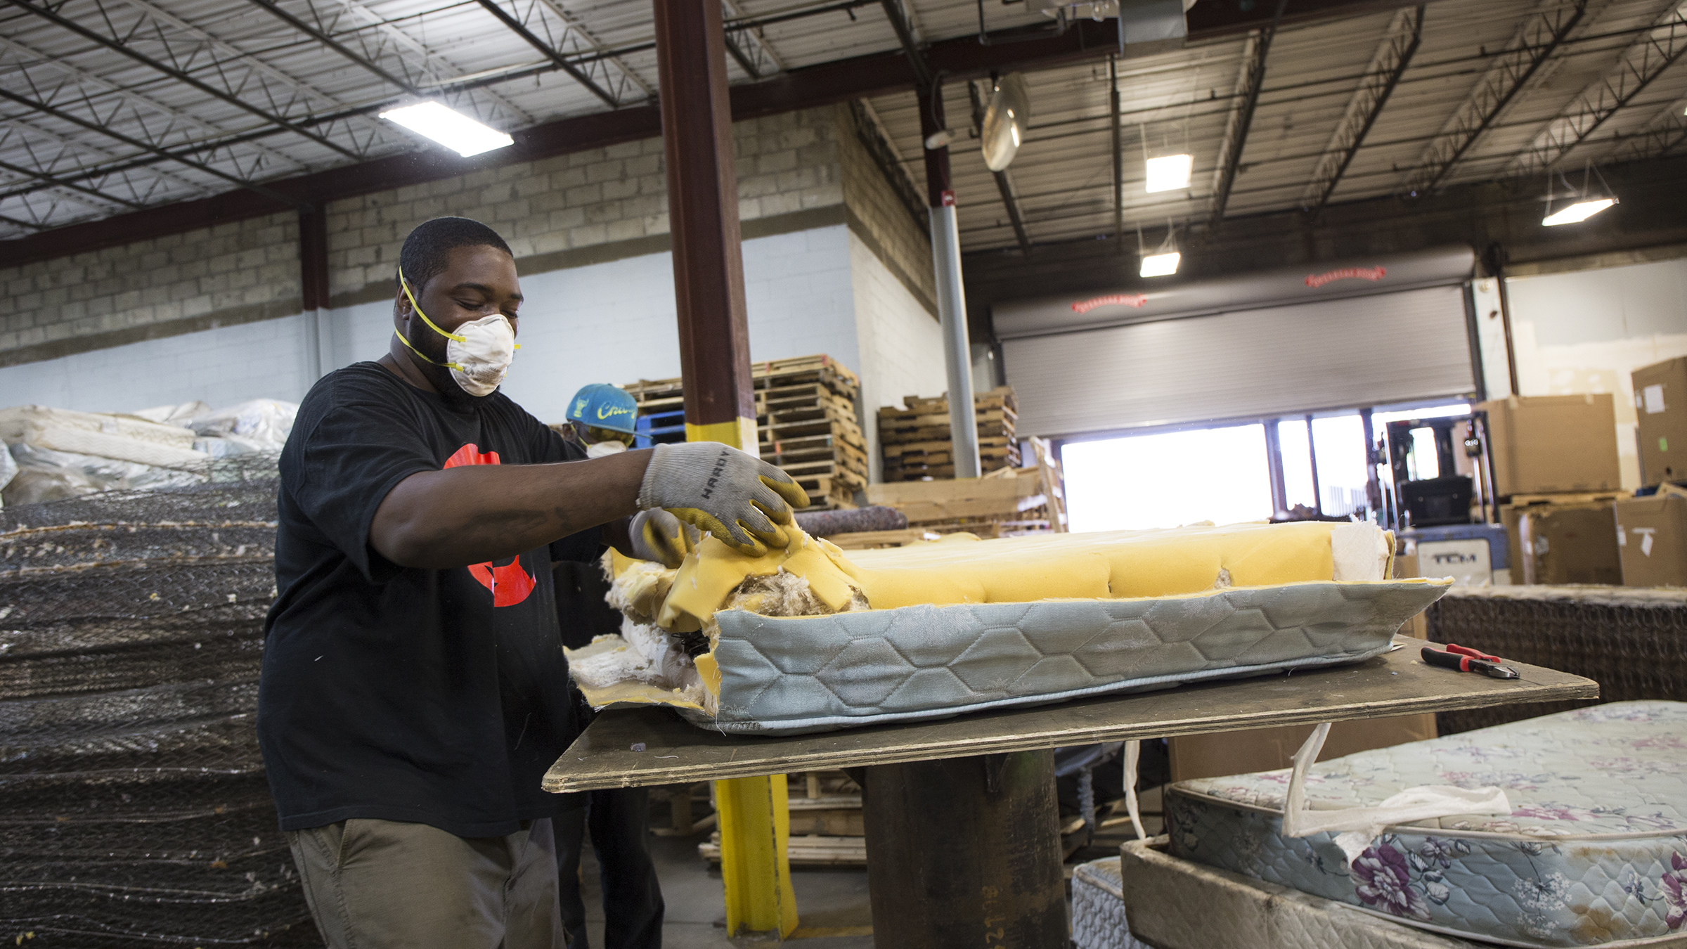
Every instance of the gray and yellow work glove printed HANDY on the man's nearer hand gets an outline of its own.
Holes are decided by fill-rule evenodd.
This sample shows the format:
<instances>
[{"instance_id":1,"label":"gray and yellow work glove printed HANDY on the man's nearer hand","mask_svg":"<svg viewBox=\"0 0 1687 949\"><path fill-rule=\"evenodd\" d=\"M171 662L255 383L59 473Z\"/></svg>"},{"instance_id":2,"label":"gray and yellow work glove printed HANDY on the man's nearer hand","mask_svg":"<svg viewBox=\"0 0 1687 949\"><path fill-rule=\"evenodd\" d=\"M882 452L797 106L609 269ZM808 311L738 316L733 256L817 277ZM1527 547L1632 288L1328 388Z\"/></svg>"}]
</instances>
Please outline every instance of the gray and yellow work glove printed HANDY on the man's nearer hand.
<instances>
[{"instance_id":1,"label":"gray and yellow work glove printed HANDY on the man's nearer hand","mask_svg":"<svg viewBox=\"0 0 1687 949\"><path fill-rule=\"evenodd\" d=\"M754 454L693 441L656 446L638 490L638 507L665 508L737 552L759 557L769 544L784 547L790 542L778 525L793 523L791 508L808 507L808 493Z\"/></svg>"}]
</instances>

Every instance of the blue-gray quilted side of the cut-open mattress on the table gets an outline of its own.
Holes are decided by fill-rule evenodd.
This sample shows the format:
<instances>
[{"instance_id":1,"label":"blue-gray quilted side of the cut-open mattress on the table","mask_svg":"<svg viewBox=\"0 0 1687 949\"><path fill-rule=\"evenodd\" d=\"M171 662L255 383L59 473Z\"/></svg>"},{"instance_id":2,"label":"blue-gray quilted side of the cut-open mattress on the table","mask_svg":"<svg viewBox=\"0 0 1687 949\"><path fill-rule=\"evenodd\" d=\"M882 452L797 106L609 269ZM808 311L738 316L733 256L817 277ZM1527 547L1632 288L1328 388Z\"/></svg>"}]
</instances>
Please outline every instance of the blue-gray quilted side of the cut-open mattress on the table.
<instances>
[{"instance_id":1,"label":"blue-gray quilted side of the cut-open mattress on the table","mask_svg":"<svg viewBox=\"0 0 1687 949\"><path fill-rule=\"evenodd\" d=\"M1145 599L715 613L727 733L801 735L1358 662L1447 588L1292 583Z\"/></svg>"}]
</instances>

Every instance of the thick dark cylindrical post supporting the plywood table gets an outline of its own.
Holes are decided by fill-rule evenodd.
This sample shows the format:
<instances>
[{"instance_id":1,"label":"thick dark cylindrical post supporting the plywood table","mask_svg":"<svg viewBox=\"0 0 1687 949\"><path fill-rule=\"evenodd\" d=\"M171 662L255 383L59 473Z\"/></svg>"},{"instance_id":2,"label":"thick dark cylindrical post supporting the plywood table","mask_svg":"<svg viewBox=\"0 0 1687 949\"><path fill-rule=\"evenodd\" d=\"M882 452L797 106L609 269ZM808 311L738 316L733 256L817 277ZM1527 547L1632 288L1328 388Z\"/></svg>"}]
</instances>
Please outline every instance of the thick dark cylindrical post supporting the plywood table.
<instances>
[{"instance_id":1,"label":"thick dark cylindrical post supporting the plywood table","mask_svg":"<svg viewBox=\"0 0 1687 949\"><path fill-rule=\"evenodd\" d=\"M1064 949L1054 751L865 770L877 949Z\"/></svg>"}]
</instances>

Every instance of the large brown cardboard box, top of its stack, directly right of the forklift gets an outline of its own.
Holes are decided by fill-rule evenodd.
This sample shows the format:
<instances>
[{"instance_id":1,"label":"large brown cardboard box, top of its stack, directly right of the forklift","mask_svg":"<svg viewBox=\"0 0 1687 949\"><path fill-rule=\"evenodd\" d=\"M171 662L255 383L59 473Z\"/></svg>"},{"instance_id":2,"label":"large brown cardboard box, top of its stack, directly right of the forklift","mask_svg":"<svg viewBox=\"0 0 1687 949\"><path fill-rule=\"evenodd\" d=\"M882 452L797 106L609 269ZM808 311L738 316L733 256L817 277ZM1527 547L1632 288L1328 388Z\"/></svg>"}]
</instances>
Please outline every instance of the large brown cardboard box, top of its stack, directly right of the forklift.
<instances>
[{"instance_id":1,"label":"large brown cardboard box, top of its stack, directly right of the forklift","mask_svg":"<svg viewBox=\"0 0 1687 949\"><path fill-rule=\"evenodd\" d=\"M1513 395L1476 405L1488 412L1495 493L1614 491L1616 404L1604 395Z\"/></svg>"}]
</instances>

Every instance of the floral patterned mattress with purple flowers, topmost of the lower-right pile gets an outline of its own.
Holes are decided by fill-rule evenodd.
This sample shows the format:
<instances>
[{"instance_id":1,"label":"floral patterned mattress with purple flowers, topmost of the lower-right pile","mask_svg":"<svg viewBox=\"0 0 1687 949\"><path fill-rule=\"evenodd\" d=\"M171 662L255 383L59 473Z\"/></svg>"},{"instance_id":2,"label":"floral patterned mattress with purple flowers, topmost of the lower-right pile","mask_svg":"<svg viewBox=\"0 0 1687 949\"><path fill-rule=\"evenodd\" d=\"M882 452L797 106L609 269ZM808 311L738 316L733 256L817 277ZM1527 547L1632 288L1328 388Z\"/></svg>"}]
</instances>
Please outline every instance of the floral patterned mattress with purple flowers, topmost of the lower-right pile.
<instances>
[{"instance_id":1,"label":"floral patterned mattress with purple flowers, topmost of the lower-right pile","mask_svg":"<svg viewBox=\"0 0 1687 949\"><path fill-rule=\"evenodd\" d=\"M1280 834L1289 772L1166 794L1171 853L1422 929L1506 946L1687 935L1687 702L1613 702L1314 765L1307 805L1417 785L1500 785L1510 816L1387 827L1350 865L1331 834Z\"/></svg>"}]
</instances>

